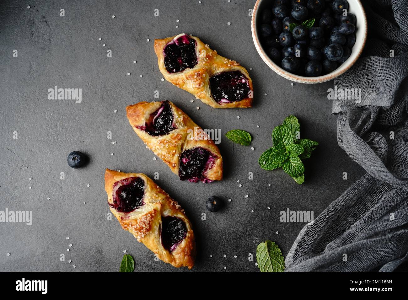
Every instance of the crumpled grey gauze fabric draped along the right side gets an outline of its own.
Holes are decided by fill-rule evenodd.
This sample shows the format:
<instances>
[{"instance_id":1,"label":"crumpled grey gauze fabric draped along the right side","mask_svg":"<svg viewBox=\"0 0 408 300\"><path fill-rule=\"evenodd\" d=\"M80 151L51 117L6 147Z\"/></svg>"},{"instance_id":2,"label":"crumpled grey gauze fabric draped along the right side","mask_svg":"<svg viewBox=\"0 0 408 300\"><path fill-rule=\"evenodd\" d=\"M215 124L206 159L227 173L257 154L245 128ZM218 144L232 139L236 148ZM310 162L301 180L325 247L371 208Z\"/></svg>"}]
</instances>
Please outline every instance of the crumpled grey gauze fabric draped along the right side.
<instances>
[{"instance_id":1,"label":"crumpled grey gauze fabric draped along the right side","mask_svg":"<svg viewBox=\"0 0 408 300\"><path fill-rule=\"evenodd\" d=\"M333 113L339 146L367 174L302 229L286 271L393 271L408 258L408 0L364 7L364 53L334 82L361 102L334 100Z\"/></svg>"}]
</instances>

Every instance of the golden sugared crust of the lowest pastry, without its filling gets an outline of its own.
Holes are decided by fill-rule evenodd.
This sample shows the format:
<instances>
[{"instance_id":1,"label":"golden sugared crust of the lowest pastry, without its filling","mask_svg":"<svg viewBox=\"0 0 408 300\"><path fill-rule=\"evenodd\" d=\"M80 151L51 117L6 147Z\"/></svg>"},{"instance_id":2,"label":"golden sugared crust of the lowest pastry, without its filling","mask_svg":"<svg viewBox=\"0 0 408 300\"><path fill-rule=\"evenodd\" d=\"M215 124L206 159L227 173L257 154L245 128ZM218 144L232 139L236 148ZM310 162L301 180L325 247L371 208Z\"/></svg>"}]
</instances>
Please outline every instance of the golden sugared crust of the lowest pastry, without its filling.
<instances>
[{"instance_id":1,"label":"golden sugared crust of the lowest pastry, without its filling","mask_svg":"<svg viewBox=\"0 0 408 300\"><path fill-rule=\"evenodd\" d=\"M190 220L184 214L184 209L153 180L142 173L124 173L106 169L105 190L108 195L108 203L113 204L113 184L129 177L140 177L144 180L143 201L145 204L129 213L119 212L109 205L111 212L124 230L132 233L139 242L142 242L153 251L158 258L172 264L174 267L188 267L188 269L191 269L195 260L195 238ZM186 237L172 252L165 249L160 240L162 216L175 216L182 219L186 224Z\"/></svg>"}]
</instances>

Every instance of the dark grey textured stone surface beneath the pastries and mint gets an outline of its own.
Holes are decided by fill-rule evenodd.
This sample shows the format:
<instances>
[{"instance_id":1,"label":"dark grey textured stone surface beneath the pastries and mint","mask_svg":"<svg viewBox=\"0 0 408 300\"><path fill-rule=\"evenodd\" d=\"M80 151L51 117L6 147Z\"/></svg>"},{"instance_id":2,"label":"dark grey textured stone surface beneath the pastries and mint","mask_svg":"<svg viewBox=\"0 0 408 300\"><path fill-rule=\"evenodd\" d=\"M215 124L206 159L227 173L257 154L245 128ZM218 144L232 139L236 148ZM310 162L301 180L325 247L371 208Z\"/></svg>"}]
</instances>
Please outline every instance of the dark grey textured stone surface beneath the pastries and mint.
<instances>
[{"instance_id":1,"label":"dark grey textured stone surface beneath the pastries and mint","mask_svg":"<svg viewBox=\"0 0 408 300\"><path fill-rule=\"evenodd\" d=\"M0 271L118 271L123 250L135 259L136 271L187 271L156 262L153 253L121 229L116 219L106 219L106 167L143 172L151 178L159 172L157 184L182 204L193 223L198 252L193 271L257 271L248 254L255 255L258 242L266 239L277 242L286 256L304 223L281 223L279 211L313 210L317 216L363 175L364 170L337 145L337 118L327 100L333 82L291 86L258 56L248 16L254 3L2 2L0 210L32 210L33 224L0 223ZM154 9L159 9L159 17L153 15ZM153 40L182 32L200 37L248 69L255 89L252 109L191 103L189 93L160 81ZM12 56L14 49L18 58ZM112 50L112 58L106 57L107 49ZM55 85L82 88L82 103L48 100L47 90ZM211 184L180 181L160 159L153 161L153 153L126 119L126 105L152 101L156 90L159 100L173 101L202 128L221 129L222 135L246 129L255 150L223 137L219 147L225 179ZM303 138L320 143L306 161L306 182L301 186L282 169L264 171L257 164L272 145L273 127L290 114L299 117ZM13 131L18 139L13 139ZM112 132L112 140L106 138L107 131ZM67 154L73 150L88 153L90 164L71 169ZM60 172L65 180L60 180ZM248 180L248 172L253 172L253 180ZM348 173L348 180L342 180L342 172ZM226 204L217 213L205 209L206 199L213 195ZM206 221L201 220L203 212ZM69 243L73 246L67 252ZM65 262L60 261L61 253Z\"/></svg>"}]
</instances>

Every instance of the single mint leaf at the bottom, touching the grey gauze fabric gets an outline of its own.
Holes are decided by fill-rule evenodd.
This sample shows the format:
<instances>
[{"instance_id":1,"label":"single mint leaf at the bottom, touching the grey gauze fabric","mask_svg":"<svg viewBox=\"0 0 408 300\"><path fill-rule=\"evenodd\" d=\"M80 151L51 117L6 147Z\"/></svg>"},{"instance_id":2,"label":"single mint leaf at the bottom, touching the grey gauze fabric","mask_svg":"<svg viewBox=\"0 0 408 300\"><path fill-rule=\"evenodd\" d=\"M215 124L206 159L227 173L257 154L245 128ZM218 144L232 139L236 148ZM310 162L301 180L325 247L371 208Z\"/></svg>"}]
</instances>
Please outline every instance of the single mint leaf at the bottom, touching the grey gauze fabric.
<instances>
[{"instance_id":1,"label":"single mint leaf at the bottom, touching the grey gauze fabric","mask_svg":"<svg viewBox=\"0 0 408 300\"><path fill-rule=\"evenodd\" d=\"M266 240L258 245L256 261L261 272L283 272L285 270L285 260L282 251L275 242L270 240Z\"/></svg>"}]
</instances>

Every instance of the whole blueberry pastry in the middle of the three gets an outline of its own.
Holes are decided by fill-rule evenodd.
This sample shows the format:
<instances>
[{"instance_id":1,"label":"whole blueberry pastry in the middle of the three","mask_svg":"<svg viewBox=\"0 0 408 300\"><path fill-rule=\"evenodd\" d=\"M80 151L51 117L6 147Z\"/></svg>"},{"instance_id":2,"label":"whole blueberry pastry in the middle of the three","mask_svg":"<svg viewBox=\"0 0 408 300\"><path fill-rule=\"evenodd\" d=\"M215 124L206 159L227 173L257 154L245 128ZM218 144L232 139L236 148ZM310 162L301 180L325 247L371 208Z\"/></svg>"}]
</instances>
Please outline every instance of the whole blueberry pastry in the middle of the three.
<instances>
[{"instance_id":1,"label":"whole blueberry pastry in the middle of the three","mask_svg":"<svg viewBox=\"0 0 408 300\"><path fill-rule=\"evenodd\" d=\"M147 148L162 159L181 180L222 180L220 150L173 103L139 102L126 107L126 115Z\"/></svg>"}]
</instances>

